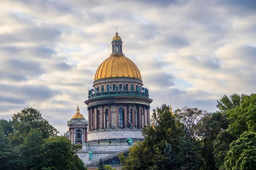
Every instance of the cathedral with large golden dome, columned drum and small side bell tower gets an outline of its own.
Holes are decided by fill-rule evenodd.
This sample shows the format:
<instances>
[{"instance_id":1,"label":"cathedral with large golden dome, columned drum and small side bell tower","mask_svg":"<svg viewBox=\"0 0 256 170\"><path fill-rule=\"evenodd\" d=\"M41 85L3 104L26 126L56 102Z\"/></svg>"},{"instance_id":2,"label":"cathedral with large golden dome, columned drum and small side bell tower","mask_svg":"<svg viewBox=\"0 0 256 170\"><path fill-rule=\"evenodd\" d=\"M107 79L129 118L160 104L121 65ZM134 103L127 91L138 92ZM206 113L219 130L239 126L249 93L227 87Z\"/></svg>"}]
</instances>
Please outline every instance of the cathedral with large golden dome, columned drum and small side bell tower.
<instances>
[{"instance_id":1,"label":"cathedral with large golden dome, columned drum and small side bell tower","mask_svg":"<svg viewBox=\"0 0 256 170\"><path fill-rule=\"evenodd\" d=\"M97 169L101 158L104 165L120 169L118 154L127 154L129 147L142 141L143 125L150 123L152 99L140 71L123 54L117 32L111 43L112 53L99 65L84 102L88 119L77 107L64 134L73 144L81 144L77 155L88 169Z\"/></svg>"}]
</instances>

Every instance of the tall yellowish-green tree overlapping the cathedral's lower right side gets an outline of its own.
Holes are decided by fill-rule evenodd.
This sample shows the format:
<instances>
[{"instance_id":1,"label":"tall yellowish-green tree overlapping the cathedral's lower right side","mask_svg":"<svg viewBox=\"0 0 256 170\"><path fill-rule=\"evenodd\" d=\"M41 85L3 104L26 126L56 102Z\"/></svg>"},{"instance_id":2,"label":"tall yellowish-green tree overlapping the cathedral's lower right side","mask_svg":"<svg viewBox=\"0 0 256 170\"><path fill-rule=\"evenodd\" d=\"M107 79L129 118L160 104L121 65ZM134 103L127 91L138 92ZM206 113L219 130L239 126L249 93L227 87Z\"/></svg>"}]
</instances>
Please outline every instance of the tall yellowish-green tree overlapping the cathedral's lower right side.
<instances>
[{"instance_id":1,"label":"tall yellowish-green tree overlapping the cathedral's lower right side","mask_svg":"<svg viewBox=\"0 0 256 170\"><path fill-rule=\"evenodd\" d=\"M175 122L175 117L169 111L169 106L163 104L153 110L151 125L143 129L145 140L129 148L127 157L121 155L120 160L124 170L160 170L169 162L164 153L166 144L177 146L183 134L183 126ZM176 150L177 147L174 148Z\"/></svg>"}]
</instances>

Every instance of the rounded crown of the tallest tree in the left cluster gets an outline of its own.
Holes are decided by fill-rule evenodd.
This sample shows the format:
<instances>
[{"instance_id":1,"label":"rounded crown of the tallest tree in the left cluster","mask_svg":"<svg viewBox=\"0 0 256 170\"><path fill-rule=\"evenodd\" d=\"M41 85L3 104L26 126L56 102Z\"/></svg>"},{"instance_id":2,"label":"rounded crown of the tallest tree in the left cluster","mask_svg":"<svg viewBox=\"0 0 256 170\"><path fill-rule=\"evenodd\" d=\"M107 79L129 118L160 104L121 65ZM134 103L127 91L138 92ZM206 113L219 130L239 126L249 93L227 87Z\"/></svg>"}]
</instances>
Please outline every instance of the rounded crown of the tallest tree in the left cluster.
<instances>
[{"instance_id":1,"label":"rounded crown of the tallest tree in the left cluster","mask_svg":"<svg viewBox=\"0 0 256 170\"><path fill-rule=\"evenodd\" d=\"M34 108L25 108L21 112L12 116L12 125L14 132L10 138L14 145L21 144L23 138L28 135L29 131L34 128L42 133L44 139L57 136L58 130L45 120L41 113Z\"/></svg>"}]
</instances>

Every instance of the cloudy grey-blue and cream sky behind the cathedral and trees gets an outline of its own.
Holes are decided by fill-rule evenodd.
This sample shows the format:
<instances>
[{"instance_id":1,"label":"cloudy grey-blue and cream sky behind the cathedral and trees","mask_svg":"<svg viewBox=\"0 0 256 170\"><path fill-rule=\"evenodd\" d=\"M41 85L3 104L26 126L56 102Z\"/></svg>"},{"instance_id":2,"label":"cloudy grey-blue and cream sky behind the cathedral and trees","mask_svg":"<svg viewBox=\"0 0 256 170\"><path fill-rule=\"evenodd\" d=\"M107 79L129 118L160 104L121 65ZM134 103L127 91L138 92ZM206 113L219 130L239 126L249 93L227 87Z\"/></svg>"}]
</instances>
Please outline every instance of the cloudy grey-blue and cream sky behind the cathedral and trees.
<instances>
[{"instance_id":1,"label":"cloudy grey-blue and cream sky behind the cathedral and trees","mask_svg":"<svg viewBox=\"0 0 256 170\"><path fill-rule=\"evenodd\" d=\"M140 69L151 108L216 110L224 94L256 92L255 0L1 0L0 118L37 108L60 134L87 118L87 89L111 53Z\"/></svg>"}]
</instances>

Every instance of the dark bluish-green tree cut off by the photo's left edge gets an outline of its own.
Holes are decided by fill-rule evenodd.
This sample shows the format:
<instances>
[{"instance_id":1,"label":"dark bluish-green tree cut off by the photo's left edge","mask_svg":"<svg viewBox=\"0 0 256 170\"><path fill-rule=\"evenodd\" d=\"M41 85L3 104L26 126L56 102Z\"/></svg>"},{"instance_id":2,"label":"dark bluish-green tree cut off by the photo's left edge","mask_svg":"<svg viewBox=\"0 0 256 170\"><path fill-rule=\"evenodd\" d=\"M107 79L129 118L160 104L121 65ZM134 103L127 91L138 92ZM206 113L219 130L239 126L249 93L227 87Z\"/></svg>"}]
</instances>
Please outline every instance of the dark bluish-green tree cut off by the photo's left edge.
<instances>
[{"instance_id":1,"label":"dark bluish-green tree cut off by the photo's left edge","mask_svg":"<svg viewBox=\"0 0 256 170\"><path fill-rule=\"evenodd\" d=\"M0 169L11 170L14 165L14 153L11 141L3 131L0 130Z\"/></svg>"}]
</instances>

